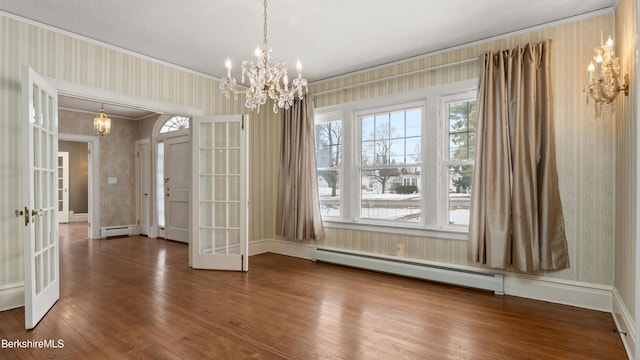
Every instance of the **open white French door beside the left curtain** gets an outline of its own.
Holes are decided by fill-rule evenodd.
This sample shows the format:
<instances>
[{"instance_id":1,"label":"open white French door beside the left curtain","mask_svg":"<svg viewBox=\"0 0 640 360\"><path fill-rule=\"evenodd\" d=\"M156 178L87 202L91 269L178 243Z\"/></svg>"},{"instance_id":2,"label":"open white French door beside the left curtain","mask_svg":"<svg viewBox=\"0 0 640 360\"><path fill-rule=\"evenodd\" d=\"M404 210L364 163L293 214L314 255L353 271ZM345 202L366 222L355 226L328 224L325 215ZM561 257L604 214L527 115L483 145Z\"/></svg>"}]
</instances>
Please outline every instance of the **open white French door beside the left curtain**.
<instances>
[{"instance_id":1,"label":"open white French door beside the left curtain","mask_svg":"<svg viewBox=\"0 0 640 360\"><path fill-rule=\"evenodd\" d=\"M248 123L240 115L195 118L190 264L247 271Z\"/></svg>"}]
</instances>

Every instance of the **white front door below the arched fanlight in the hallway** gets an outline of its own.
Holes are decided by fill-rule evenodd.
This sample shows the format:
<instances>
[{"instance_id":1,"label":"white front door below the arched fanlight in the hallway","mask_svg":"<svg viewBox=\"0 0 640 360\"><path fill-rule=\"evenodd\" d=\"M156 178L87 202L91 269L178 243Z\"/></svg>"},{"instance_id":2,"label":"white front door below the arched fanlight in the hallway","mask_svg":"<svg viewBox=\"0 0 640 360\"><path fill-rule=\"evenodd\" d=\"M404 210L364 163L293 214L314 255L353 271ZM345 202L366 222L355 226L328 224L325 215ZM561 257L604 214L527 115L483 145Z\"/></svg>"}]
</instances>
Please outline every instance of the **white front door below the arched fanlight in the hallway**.
<instances>
[{"instance_id":1,"label":"white front door below the arched fanlight in the hallway","mask_svg":"<svg viewBox=\"0 0 640 360\"><path fill-rule=\"evenodd\" d=\"M165 238L189 242L191 144L189 136L164 141Z\"/></svg>"}]
</instances>

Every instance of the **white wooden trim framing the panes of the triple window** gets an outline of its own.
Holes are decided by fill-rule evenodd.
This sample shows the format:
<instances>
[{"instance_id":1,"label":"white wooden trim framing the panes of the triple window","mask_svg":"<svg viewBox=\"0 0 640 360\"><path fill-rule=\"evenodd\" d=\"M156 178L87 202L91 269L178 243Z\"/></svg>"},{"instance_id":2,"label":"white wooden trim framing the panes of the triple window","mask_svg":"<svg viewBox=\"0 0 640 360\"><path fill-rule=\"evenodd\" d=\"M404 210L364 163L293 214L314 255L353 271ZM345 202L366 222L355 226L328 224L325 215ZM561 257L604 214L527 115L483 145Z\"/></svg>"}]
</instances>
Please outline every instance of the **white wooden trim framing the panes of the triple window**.
<instances>
[{"instance_id":1,"label":"white wooden trim framing the panes of the triple window","mask_svg":"<svg viewBox=\"0 0 640 360\"><path fill-rule=\"evenodd\" d=\"M350 102L335 106L315 109L316 123L342 120L342 163L340 164L340 218L323 217L323 223L327 228L340 228L358 231L383 232L410 236L424 236L453 240L467 240L468 229L462 226L450 226L446 219L446 206L448 199L443 191L443 186L448 188L448 176L442 176L442 168L445 166L443 152L446 151L448 133L443 129L444 123L440 121L443 116L445 101L461 98L463 94L472 94L477 91L477 79L438 85L426 89L419 89L401 94L387 95L356 102ZM463 99L468 98L462 97ZM422 114L422 149L426 154L437 156L421 157L423 169L437 169L438 176L421 176L422 207L429 208L429 200L436 199L437 208L435 214L423 215L421 223L399 223L381 220L360 219L358 209L360 206L360 189L357 186L359 180L360 134L358 116L373 112L397 110L399 108L423 106ZM438 121L428 121L436 117ZM424 134L435 134L433 137ZM423 171L424 173L424 171ZM446 175L446 174L445 174ZM345 179L349 181L345 183ZM444 185L443 185L444 184ZM447 224L445 224L447 222Z\"/></svg>"}]
</instances>

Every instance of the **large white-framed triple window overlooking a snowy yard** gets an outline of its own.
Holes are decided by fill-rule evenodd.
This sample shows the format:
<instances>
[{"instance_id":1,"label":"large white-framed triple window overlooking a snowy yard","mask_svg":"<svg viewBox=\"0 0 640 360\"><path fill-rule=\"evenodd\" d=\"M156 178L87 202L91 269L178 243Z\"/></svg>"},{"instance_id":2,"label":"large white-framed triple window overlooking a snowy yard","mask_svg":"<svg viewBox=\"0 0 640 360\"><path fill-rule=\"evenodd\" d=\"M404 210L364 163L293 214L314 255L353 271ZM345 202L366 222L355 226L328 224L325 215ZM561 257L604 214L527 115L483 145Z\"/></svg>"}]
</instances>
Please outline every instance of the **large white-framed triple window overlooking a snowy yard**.
<instances>
[{"instance_id":1,"label":"large white-framed triple window overlooking a snowy yard","mask_svg":"<svg viewBox=\"0 0 640 360\"><path fill-rule=\"evenodd\" d=\"M316 109L323 220L392 233L466 231L476 86L465 81Z\"/></svg>"}]
</instances>

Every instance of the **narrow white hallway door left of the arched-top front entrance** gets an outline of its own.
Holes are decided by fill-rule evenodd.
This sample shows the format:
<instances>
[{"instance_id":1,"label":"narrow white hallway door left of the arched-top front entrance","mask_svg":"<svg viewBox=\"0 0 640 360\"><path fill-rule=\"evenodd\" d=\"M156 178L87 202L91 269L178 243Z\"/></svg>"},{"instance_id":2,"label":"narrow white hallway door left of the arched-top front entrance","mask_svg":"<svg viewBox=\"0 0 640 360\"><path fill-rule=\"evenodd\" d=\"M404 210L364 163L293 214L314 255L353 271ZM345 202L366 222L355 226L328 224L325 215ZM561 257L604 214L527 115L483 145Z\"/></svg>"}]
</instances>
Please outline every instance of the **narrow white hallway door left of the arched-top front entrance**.
<instances>
[{"instance_id":1,"label":"narrow white hallway door left of the arched-top front entrance","mask_svg":"<svg viewBox=\"0 0 640 360\"><path fill-rule=\"evenodd\" d=\"M149 235L151 227L151 154L149 140L136 141L136 215L138 231Z\"/></svg>"}]
</instances>

